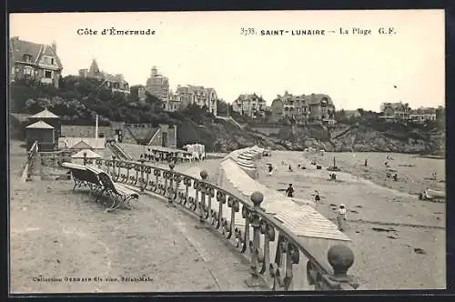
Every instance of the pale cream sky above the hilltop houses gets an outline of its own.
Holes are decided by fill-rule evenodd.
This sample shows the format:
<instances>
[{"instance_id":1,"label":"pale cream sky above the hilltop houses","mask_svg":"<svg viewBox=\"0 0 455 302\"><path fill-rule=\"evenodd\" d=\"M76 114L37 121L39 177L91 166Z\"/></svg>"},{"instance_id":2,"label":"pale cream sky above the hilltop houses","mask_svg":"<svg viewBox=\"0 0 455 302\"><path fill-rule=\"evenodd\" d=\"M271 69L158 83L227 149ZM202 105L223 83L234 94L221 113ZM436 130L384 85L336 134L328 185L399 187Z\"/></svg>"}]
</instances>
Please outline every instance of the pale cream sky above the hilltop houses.
<instances>
[{"instance_id":1,"label":"pale cream sky above the hilltop houses","mask_svg":"<svg viewBox=\"0 0 455 302\"><path fill-rule=\"evenodd\" d=\"M113 26L156 35L100 35ZM257 35L241 35L242 27ZM380 27L394 30L379 35ZM85 28L98 35L77 35ZM371 33L354 35L354 28ZM445 103L443 10L27 13L11 14L9 29L23 40L55 41L63 76L77 75L95 58L130 86L145 85L157 65L171 89L213 87L229 103L256 93L270 105L286 90L327 94L346 110ZM260 35L279 29L324 29L326 35Z\"/></svg>"}]
</instances>

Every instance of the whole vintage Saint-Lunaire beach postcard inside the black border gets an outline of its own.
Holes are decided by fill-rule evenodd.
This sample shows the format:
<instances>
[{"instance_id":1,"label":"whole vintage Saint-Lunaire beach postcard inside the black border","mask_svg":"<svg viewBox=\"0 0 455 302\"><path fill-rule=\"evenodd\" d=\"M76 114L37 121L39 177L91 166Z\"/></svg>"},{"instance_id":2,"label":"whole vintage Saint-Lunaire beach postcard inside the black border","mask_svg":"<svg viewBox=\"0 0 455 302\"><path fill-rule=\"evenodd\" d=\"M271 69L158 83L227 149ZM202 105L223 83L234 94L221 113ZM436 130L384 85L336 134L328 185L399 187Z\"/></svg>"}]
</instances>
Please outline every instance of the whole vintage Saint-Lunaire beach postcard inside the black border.
<instances>
[{"instance_id":1,"label":"whole vintage Saint-Lunaire beach postcard inside the black border","mask_svg":"<svg viewBox=\"0 0 455 302\"><path fill-rule=\"evenodd\" d=\"M10 293L446 288L444 22L10 14Z\"/></svg>"}]
</instances>

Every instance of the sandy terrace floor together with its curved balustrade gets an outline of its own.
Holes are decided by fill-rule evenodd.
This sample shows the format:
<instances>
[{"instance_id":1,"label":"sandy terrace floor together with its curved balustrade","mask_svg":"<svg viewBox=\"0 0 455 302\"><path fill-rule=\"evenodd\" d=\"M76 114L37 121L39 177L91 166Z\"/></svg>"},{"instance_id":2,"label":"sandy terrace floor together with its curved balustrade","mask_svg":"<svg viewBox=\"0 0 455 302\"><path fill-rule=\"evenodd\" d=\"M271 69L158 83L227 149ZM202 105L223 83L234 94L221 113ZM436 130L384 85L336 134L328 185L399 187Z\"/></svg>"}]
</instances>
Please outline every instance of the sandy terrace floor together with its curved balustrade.
<instances>
[{"instance_id":1,"label":"sandy terrace floor together with its curved balustrade","mask_svg":"<svg viewBox=\"0 0 455 302\"><path fill-rule=\"evenodd\" d=\"M24 155L28 179L34 178L34 170L49 173L38 168L40 165L54 165L54 170L67 175L60 166L63 158L51 163L41 156L36 149L28 157ZM106 213L100 210L99 203L88 202L87 189L72 192L72 181L67 178L25 183L12 178L13 291L286 291L359 287L348 274L354 263L354 255L346 246L349 239L331 229L327 237L308 235L318 232L293 226L292 221L283 218L286 210L274 209L272 213L264 208L267 196L261 192L255 191L247 198L235 189L215 185L204 170L195 176L177 172L173 164L164 168L143 162L86 158L86 165L104 170L116 184L136 191L139 201L129 211ZM307 217L308 221L313 221L312 216ZM319 231L331 227L329 221L318 221L319 226L314 227ZM50 248L52 242L54 248ZM35 266L34 261L50 261L52 265ZM119 285L94 280L57 282L54 287L26 280L25 270L26 276L47 273L45 277L93 278L100 274L105 278L150 277L153 281Z\"/></svg>"}]
</instances>

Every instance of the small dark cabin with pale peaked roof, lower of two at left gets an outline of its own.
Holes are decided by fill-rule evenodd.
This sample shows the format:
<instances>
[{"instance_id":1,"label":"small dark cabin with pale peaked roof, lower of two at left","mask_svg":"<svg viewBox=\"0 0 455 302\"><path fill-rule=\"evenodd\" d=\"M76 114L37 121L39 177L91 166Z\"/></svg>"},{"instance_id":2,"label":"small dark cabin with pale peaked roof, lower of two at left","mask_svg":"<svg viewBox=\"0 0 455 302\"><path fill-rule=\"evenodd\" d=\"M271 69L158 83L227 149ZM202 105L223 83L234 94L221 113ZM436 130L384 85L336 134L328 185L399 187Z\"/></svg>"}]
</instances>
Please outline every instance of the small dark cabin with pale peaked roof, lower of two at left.
<instances>
[{"instance_id":1,"label":"small dark cabin with pale peaked roof, lower of two at left","mask_svg":"<svg viewBox=\"0 0 455 302\"><path fill-rule=\"evenodd\" d=\"M30 149L35 141L37 141L38 150L54 151L56 148L55 128L43 121L37 121L25 127L25 140L27 149Z\"/></svg>"}]
</instances>

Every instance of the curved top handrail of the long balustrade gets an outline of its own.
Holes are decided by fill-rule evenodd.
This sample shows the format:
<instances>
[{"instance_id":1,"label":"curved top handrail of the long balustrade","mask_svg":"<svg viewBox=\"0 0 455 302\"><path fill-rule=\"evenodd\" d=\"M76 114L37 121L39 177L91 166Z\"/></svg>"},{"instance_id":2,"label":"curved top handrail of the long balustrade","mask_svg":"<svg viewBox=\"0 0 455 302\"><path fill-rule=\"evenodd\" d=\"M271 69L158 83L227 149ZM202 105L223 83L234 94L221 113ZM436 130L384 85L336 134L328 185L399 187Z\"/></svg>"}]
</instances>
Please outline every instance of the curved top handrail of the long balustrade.
<instances>
[{"instance_id":1,"label":"curved top handrail of the long balustrade","mask_svg":"<svg viewBox=\"0 0 455 302\"><path fill-rule=\"evenodd\" d=\"M261 219L265 220L265 222L269 226L277 229L280 237L284 237L283 239L287 240L288 244L291 244L294 247L297 247L298 250L300 252L302 252L305 257L308 258L308 261L313 266L312 269L319 271L320 277L323 278L324 281L326 281L327 283L333 282L333 279L331 278L331 276L337 276L337 272L335 271L334 267L329 267L326 263L320 262L317 257L314 257L311 254L311 252L308 251L308 248L305 247L298 240L297 235L295 235L290 229L288 229L288 227L283 226L282 222L280 222L276 217L268 214L264 208L254 205L255 202L253 200L253 197L251 197L252 198L251 202L246 201L243 197L236 196L235 194L228 192L226 189L224 189L220 186L217 186L216 184L210 183L209 181L207 181L205 179L199 179L199 178L197 178L197 176L189 176L185 173L174 171L173 167L168 169L165 167L153 166L149 163L146 163L144 160L133 161L133 160L103 158L103 159L95 159L95 162L98 166L102 165L102 162L105 162L106 164L110 163L113 168L118 167L118 171L120 171L120 168L127 168L128 171L129 171L129 169L134 169L134 170L136 170L136 173L138 173L138 171L144 172L145 168L147 167L147 168L150 168L153 170L158 170L161 173L166 172L167 176L165 176L165 179L167 179L167 177L169 177L168 179L172 179L171 177L180 176L183 179L188 179L188 178L191 179L192 184L193 184L193 186L195 186L195 188L196 188L196 186L199 186L199 184L202 184L202 186L205 186L205 187L209 186L209 187L217 190L217 192L221 192L221 194L224 194L224 196L227 196L228 197L227 201L229 201L229 200L237 201L242 206L246 207L246 210L249 213L256 213L258 216L260 216ZM110 166L110 165L106 165L106 166ZM148 172L148 173L150 174L151 172ZM201 176L202 176L202 174L201 174ZM220 201L218 201L218 202L220 202ZM243 211L243 208L242 208L242 211ZM330 253L330 251L329 251L329 253ZM329 260L329 262L330 262L330 260ZM330 265L332 265L332 264L330 263ZM350 265L349 265L349 267L350 267ZM345 276L342 278L347 279L349 277L348 277L348 275L345 274ZM354 288L356 287L355 282L350 283L350 281L349 281L349 284Z\"/></svg>"}]
</instances>

